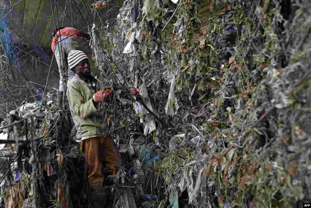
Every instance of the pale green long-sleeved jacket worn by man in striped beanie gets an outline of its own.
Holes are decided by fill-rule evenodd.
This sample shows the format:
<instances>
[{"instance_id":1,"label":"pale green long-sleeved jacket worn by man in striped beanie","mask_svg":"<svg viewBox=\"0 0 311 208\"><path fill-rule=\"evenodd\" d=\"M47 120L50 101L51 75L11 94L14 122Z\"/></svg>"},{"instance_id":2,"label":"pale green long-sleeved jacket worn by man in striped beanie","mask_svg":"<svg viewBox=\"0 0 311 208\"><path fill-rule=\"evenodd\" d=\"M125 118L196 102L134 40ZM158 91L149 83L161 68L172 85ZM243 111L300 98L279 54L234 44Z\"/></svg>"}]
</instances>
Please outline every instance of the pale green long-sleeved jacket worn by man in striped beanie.
<instances>
[{"instance_id":1,"label":"pale green long-sleeved jacket worn by man in striped beanie","mask_svg":"<svg viewBox=\"0 0 311 208\"><path fill-rule=\"evenodd\" d=\"M97 80L92 88L91 83L86 83L77 74L67 84L67 99L70 113L77 129L77 142L84 139L103 136L103 125L107 119L106 103L94 106L92 97L98 90L104 89L104 84Z\"/></svg>"}]
</instances>

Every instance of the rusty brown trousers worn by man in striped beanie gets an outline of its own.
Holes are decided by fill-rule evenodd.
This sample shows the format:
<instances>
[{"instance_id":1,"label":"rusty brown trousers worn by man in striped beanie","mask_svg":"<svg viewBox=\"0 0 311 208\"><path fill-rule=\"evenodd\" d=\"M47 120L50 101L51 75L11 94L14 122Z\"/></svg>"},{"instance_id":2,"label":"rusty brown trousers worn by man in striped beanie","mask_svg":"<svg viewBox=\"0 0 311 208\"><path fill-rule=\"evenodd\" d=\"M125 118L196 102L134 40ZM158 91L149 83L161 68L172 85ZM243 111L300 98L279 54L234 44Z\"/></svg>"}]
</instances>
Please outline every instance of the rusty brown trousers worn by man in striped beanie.
<instances>
[{"instance_id":1,"label":"rusty brown trousers worn by man in striped beanie","mask_svg":"<svg viewBox=\"0 0 311 208\"><path fill-rule=\"evenodd\" d=\"M89 186L102 186L104 173L116 174L118 154L112 137L85 139L80 149L86 157Z\"/></svg>"}]
</instances>

